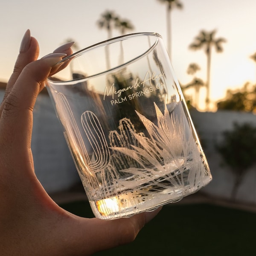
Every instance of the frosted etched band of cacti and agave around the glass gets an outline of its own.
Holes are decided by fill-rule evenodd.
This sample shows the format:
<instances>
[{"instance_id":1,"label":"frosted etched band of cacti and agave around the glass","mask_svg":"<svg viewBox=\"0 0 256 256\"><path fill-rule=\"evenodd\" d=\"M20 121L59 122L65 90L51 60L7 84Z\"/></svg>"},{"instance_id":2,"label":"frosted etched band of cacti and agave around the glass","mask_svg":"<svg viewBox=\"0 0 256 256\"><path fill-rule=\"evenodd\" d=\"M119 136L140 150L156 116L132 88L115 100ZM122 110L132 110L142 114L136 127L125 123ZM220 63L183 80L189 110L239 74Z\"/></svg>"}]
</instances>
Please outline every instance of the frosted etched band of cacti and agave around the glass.
<instances>
[{"instance_id":1,"label":"frosted etched band of cacti and agave around the glass","mask_svg":"<svg viewBox=\"0 0 256 256\"><path fill-rule=\"evenodd\" d=\"M166 105L162 113L154 103L156 123L135 111L148 137L138 133L130 119L122 118L118 128L109 132L108 145L95 113L82 113L81 125L86 135L83 137L66 97L58 93L57 98L67 142L89 197L124 195L134 188L142 200L145 191L153 195L170 187L186 187L192 192L207 175L189 122L180 112L181 103L172 113Z\"/></svg>"}]
</instances>

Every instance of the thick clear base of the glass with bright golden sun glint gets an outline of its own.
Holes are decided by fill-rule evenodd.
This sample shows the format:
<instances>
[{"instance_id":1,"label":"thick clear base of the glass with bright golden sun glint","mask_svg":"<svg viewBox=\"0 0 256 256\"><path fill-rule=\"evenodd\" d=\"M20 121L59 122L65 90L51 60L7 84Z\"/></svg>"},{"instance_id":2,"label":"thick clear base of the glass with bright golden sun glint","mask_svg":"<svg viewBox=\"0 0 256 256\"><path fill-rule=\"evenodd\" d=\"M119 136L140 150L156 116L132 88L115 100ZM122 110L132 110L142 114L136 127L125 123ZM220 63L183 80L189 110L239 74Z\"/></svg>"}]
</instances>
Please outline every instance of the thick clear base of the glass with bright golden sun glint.
<instances>
[{"instance_id":1,"label":"thick clear base of the glass with bright golden sun glint","mask_svg":"<svg viewBox=\"0 0 256 256\"><path fill-rule=\"evenodd\" d=\"M94 215L100 219L128 218L140 212L149 212L158 207L180 201L183 197L197 192L212 180L206 176L197 186L170 187L157 192L157 186L123 191L109 198L89 201Z\"/></svg>"}]
</instances>

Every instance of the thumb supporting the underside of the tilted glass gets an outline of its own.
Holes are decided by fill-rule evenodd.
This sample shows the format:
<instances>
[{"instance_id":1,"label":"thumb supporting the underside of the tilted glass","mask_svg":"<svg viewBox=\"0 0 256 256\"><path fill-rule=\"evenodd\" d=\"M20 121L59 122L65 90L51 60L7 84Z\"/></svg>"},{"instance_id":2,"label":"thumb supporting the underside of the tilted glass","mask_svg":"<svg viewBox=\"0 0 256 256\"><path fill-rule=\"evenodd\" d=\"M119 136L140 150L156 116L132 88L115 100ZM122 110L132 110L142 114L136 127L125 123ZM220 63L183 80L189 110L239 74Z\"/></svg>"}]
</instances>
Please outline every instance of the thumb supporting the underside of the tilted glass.
<instances>
[{"instance_id":1,"label":"thumb supporting the underside of the tilted glass","mask_svg":"<svg viewBox=\"0 0 256 256\"><path fill-rule=\"evenodd\" d=\"M91 255L100 250L130 243L160 210L161 207L153 212L142 212L130 218L114 220L76 218L76 223L72 223L72 227L68 229L72 248L70 255Z\"/></svg>"}]
</instances>

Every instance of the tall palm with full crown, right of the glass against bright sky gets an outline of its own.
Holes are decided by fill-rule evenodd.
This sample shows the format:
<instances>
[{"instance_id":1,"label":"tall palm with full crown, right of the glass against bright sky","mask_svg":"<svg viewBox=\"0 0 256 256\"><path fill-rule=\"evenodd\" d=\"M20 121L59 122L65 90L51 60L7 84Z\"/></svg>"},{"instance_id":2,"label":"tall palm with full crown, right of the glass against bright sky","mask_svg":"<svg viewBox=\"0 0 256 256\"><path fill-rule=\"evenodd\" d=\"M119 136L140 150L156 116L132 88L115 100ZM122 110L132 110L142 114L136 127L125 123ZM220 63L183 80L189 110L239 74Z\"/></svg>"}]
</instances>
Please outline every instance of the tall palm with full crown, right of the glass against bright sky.
<instances>
[{"instance_id":1,"label":"tall palm with full crown, right of the glass against bright sky","mask_svg":"<svg viewBox=\"0 0 256 256\"><path fill-rule=\"evenodd\" d=\"M216 30L206 32L202 30L199 35L195 37L195 41L189 45L192 50L204 49L207 55L207 79L206 79L206 109L209 109L209 87L210 87L210 67L211 67L211 54L212 47L215 47L216 52L222 52L222 43L226 42L224 38L215 38Z\"/></svg>"}]
</instances>

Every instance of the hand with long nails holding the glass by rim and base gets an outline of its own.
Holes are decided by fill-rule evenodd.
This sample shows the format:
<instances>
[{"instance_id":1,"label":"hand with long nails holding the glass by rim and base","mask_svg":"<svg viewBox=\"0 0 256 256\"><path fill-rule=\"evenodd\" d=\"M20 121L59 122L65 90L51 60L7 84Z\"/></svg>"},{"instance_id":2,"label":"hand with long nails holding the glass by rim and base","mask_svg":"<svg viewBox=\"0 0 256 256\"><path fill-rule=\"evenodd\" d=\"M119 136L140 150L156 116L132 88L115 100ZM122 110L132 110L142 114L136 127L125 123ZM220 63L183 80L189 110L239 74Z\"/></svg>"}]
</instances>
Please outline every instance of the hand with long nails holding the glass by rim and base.
<instances>
[{"instance_id":1,"label":"hand with long nails holding the glass by rim and base","mask_svg":"<svg viewBox=\"0 0 256 256\"><path fill-rule=\"evenodd\" d=\"M55 63L72 43L37 60L38 42L25 33L14 73L0 105L0 252L19 256L90 255L133 241L157 212L131 218L81 218L58 207L35 176L31 151L32 111Z\"/></svg>"}]
</instances>

